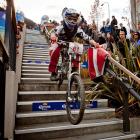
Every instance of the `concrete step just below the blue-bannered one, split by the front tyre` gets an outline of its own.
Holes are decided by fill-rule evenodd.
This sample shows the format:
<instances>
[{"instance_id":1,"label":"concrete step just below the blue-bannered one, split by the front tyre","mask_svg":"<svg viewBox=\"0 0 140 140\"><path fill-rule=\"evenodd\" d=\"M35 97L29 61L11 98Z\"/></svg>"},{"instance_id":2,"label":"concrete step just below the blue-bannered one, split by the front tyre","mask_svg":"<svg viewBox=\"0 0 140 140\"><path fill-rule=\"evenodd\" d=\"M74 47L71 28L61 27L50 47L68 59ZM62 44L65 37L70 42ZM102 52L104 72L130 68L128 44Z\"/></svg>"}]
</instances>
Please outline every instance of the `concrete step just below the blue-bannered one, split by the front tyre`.
<instances>
[{"instance_id":1,"label":"concrete step just below the blue-bannered one, split by the front tyre","mask_svg":"<svg viewBox=\"0 0 140 140\"><path fill-rule=\"evenodd\" d=\"M94 108L85 109L83 120L113 118L115 109L112 108ZM66 110L43 111L43 112L25 112L16 114L16 126L67 122Z\"/></svg>"}]
</instances>

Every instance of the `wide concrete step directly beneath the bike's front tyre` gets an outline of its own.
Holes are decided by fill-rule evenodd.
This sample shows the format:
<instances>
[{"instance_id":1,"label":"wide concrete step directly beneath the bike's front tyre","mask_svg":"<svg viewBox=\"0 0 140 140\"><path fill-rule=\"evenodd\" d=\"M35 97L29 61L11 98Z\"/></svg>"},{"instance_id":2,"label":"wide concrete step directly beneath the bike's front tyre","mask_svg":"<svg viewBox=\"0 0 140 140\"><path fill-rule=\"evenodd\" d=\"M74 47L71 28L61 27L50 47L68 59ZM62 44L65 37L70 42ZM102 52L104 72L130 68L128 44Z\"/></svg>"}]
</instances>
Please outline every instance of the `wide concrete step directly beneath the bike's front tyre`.
<instances>
[{"instance_id":1,"label":"wide concrete step directly beneath the bike's front tyre","mask_svg":"<svg viewBox=\"0 0 140 140\"><path fill-rule=\"evenodd\" d=\"M99 119L99 120L83 120L79 125L71 125L67 123L50 123L42 125L31 125L18 127L15 130L16 139L49 139L62 138L78 135L97 134L101 132L109 132L122 129L122 120L119 119Z\"/></svg>"}]
</instances>

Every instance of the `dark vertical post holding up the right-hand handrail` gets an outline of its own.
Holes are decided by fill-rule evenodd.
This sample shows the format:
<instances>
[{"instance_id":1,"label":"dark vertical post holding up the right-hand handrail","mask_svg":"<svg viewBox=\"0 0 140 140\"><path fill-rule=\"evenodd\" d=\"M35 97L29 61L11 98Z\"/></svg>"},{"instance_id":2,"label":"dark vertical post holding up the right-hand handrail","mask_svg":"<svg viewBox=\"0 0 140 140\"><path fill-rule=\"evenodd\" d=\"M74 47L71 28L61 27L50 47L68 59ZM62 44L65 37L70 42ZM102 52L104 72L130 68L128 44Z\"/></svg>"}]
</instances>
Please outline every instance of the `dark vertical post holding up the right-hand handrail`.
<instances>
[{"instance_id":1,"label":"dark vertical post holding up the right-hand handrail","mask_svg":"<svg viewBox=\"0 0 140 140\"><path fill-rule=\"evenodd\" d=\"M129 93L127 92L127 90L124 90L124 92L123 92L123 102L124 102L124 108L123 108L123 131L124 131L124 133L129 133L130 132L128 95L129 95Z\"/></svg>"}]
</instances>

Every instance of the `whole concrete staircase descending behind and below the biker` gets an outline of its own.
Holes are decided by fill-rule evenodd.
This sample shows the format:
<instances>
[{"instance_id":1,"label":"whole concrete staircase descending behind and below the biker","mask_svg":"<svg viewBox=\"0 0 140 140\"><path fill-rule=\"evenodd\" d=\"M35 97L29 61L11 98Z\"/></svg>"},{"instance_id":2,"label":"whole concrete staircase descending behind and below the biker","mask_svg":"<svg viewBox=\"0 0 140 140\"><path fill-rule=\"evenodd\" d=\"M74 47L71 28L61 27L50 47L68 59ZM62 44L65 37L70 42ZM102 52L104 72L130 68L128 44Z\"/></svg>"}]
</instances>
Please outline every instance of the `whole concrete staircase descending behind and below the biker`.
<instances>
[{"instance_id":1,"label":"whole concrete staircase descending behind and below the biker","mask_svg":"<svg viewBox=\"0 0 140 140\"><path fill-rule=\"evenodd\" d=\"M27 30L17 101L15 140L135 139L135 134L122 132L123 122L115 118L115 109L108 108L107 99L88 101L82 122L78 125L70 124L65 110L67 81L58 90L58 82L49 79L48 64L46 39L39 32ZM85 80L84 84L85 94L92 94L88 90L90 83ZM41 105L41 110L34 110L34 105L38 104ZM62 109L45 108L51 104L62 106Z\"/></svg>"}]
</instances>

